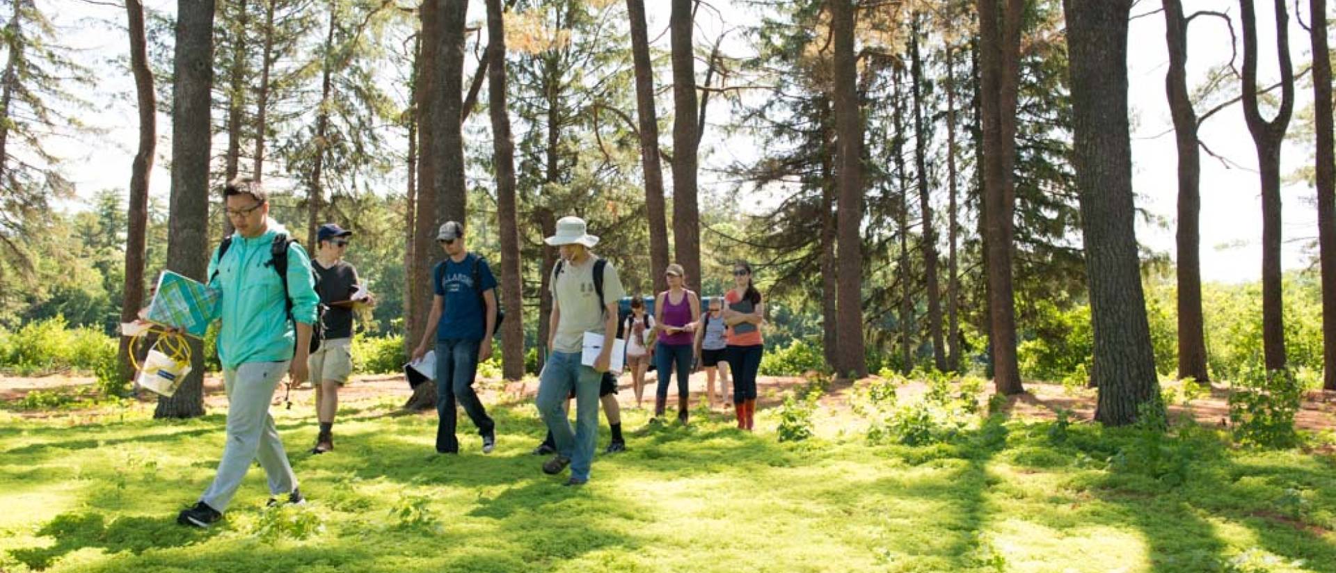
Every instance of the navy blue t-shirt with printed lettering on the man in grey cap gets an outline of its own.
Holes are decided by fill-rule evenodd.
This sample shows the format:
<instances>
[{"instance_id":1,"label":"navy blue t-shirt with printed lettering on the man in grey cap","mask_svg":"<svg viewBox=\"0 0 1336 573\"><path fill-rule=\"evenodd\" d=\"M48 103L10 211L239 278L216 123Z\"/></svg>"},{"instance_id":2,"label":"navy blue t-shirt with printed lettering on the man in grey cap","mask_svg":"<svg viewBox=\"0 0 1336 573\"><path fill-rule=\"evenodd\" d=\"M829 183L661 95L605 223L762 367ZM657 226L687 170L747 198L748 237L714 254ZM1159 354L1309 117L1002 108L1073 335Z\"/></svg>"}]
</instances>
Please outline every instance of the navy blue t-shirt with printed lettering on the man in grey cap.
<instances>
[{"instance_id":1,"label":"navy blue t-shirt with printed lettering on the man in grey cap","mask_svg":"<svg viewBox=\"0 0 1336 573\"><path fill-rule=\"evenodd\" d=\"M477 264L480 284L473 284L473 266ZM442 268L444 266L444 268ZM469 252L462 263L446 258L432 270L433 289L442 297L441 322L436 326L437 341L481 341L486 318L482 315L481 293L497 287L488 260Z\"/></svg>"}]
</instances>

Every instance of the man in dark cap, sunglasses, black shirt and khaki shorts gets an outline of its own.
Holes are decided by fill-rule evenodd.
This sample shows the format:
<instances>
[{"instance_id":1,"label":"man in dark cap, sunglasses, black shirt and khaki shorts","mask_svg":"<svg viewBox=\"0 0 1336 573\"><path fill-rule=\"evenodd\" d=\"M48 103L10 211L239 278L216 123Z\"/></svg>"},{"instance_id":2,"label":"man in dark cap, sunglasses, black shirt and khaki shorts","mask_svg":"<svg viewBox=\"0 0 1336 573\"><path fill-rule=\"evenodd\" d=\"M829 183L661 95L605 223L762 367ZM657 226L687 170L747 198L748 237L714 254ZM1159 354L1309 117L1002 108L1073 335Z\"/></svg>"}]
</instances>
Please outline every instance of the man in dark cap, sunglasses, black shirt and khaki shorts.
<instances>
[{"instance_id":1,"label":"man in dark cap, sunglasses, black shirt and khaki shorts","mask_svg":"<svg viewBox=\"0 0 1336 573\"><path fill-rule=\"evenodd\" d=\"M315 293L325 306L325 339L319 349L311 353L310 371L315 383L315 415L321 422L321 433L315 438L313 454L323 454L334 449L334 413L338 411L338 389L347 383L353 374L353 306L371 303L370 294L357 297L357 268L343 254L353 231L335 223L325 223L315 232L319 248L311 267L321 280Z\"/></svg>"}]
</instances>

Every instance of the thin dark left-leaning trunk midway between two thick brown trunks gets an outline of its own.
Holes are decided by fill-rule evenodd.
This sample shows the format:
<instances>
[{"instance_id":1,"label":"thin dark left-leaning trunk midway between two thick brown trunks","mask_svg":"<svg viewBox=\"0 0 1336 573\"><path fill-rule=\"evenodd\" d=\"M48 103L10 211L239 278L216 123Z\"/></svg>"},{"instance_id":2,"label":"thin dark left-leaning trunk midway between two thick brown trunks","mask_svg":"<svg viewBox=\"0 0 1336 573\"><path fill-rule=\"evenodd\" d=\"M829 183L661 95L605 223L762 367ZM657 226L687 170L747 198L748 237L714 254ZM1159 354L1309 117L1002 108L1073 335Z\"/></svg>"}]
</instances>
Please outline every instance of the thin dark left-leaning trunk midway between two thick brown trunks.
<instances>
[{"instance_id":1,"label":"thin dark left-leaning trunk midway between two thick brown trunks","mask_svg":"<svg viewBox=\"0 0 1336 573\"><path fill-rule=\"evenodd\" d=\"M937 279L937 227L927 187L927 127L923 124L923 57L919 55L918 15L910 35L914 87L914 163L918 170L919 211L923 220L923 275L927 290L927 330L933 337L933 365L946 371L946 342L942 339L942 287Z\"/></svg>"}]
</instances>

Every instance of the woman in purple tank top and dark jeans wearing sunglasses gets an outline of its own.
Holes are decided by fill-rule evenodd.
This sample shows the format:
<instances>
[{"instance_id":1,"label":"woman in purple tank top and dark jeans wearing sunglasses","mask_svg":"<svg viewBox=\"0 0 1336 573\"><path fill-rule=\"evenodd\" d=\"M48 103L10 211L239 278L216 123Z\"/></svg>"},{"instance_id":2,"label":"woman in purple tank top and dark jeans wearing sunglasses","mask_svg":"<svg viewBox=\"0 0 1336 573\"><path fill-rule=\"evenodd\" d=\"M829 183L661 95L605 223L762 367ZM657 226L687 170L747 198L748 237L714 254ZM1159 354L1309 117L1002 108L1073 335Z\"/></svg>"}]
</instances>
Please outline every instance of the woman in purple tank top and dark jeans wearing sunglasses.
<instances>
[{"instance_id":1,"label":"woman in purple tank top and dark jeans wearing sunglasses","mask_svg":"<svg viewBox=\"0 0 1336 573\"><path fill-rule=\"evenodd\" d=\"M659 370L659 391L655 395L655 417L657 422L664 415L668 403L668 383L673 367L677 374L677 421L687 423L687 410L691 407L691 367L696 361L696 326L700 323L700 299L687 290L681 264L672 263L664 270L668 290L659 293L655 309L659 322L655 334L659 343L655 350L655 369Z\"/></svg>"}]
</instances>

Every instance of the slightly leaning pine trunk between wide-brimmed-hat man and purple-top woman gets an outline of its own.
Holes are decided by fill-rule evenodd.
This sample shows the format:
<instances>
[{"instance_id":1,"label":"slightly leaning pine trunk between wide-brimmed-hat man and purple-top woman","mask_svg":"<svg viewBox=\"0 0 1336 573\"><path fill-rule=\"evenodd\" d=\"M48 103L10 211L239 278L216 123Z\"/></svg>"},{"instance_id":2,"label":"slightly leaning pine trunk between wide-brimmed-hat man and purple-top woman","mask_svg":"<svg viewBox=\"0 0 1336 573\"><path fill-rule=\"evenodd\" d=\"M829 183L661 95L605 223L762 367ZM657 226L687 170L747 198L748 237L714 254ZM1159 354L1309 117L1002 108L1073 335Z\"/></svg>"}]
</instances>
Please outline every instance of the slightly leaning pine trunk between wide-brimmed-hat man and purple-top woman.
<instances>
[{"instance_id":1,"label":"slightly leaning pine trunk between wide-brimmed-hat man and purple-top woman","mask_svg":"<svg viewBox=\"0 0 1336 573\"><path fill-rule=\"evenodd\" d=\"M664 174L659 163L659 115L655 110L655 68L649 60L649 35L644 0L627 0L631 20L631 55L636 72L636 118L640 124L640 166L645 174L645 211L649 216L649 276L655 293L668 290L663 270L668 266L668 223Z\"/></svg>"}]
</instances>

